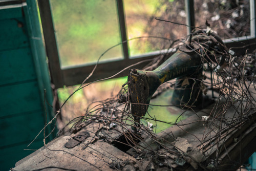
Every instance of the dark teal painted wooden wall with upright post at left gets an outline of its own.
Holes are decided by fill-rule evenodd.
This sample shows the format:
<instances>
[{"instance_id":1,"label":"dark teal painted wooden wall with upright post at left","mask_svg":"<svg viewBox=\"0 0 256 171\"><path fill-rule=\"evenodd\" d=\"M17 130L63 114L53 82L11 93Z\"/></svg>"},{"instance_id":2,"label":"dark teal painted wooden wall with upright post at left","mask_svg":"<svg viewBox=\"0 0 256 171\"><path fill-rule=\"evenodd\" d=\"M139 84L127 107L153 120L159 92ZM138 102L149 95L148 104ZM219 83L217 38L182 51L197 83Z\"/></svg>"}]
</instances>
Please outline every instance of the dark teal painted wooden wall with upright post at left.
<instances>
[{"instance_id":1,"label":"dark teal painted wooden wall with upright post at left","mask_svg":"<svg viewBox=\"0 0 256 171\"><path fill-rule=\"evenodd\" d=\"M53 95L35 0L1 6L0 30L0 166L8 170L34 152L24 149L44 145L41 134L27 147L45 124L44 90L49 103Z\"/></svg>"}]
</instances>

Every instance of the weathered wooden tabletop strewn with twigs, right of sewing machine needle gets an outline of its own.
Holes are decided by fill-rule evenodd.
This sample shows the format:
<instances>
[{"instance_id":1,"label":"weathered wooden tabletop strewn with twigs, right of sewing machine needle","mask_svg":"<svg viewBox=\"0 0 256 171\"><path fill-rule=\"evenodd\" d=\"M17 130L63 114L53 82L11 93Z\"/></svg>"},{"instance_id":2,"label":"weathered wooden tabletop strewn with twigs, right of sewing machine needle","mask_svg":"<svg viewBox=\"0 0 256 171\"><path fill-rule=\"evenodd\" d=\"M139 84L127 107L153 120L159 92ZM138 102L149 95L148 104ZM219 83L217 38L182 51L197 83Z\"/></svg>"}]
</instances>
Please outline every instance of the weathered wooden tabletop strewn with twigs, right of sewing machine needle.
<instances>
[{"instance_id":1,"label":"weathered wooden tabletop strewn with twigs, right of sewing machine needle","mask_svg":"<svg viewBox=\"0 0 256 171\"><path fill-rule=\"evenodd\" d=\"M225 103L219 102L208 106L199 112L188 111L188 113L194 113L185 120L182 120L179 125L169 127L165 131L157 134L155 138L147 138L140 142L134 148L127 151L128 154L136 156L138 151L161 153L163 149L178 149L180 155L182 155L187 163L191 166L194 164L194 168L177 165L178 155L173 155L172 151L166 150L166 160L168 158L168 166L180 169L197 169L198 163L206 160L218 158L218 165L215 163L215 168L218 170L236 170L245 160L252 155L256 150L256 146L252 144L256 143L256 113L248 113L246 119L241 119L241 122L237 121L241 111L241 106L234 105L228 108L225 115L212 117L212 109L220 111L223 109ZM203 116L210 116L207 121L203 121ZM219 117L219 118L218 118ZM245 116L244 116L245 117ZM237 122L238 124L232 124ZM186 143L183 143L186 142ZM189 153L188 149L193 153ZM201 154L201 155L199 155ZM191 160L193 159L193 160ZM146 159L144 159L146 160ZM163 160L163 161L164 161ZM208 165L207 169L212 168Z\"/></svg>"}]
</instances>

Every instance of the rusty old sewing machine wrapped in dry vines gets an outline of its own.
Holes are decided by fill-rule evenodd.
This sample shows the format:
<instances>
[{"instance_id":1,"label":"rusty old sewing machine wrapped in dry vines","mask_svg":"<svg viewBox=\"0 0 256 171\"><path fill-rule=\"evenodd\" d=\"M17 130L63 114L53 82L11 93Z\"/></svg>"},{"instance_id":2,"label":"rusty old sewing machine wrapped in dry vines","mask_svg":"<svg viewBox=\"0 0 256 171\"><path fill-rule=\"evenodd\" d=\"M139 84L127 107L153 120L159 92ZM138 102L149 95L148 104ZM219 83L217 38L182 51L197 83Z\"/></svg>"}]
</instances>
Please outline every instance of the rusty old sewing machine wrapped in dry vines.
<instances>
[{"instance_id":1,"label":"rusty old sewing machine wrapped in dry vines","mask_svg":"<svg viewBox=\"0 0 256 171\"><path fill-rule=\"evenodd\" d=\"M172 104L203 108L201 91L204 62L224 63L223 57L216 58L224 44L221 38L208 31L196 31L179 50L154 71L130 70L128 76L131 114L135 123L145 116L148 104L158 87L171 79L178 78ZM121 99L119 100L121 101Z\"/></svg>"}]
</instances>

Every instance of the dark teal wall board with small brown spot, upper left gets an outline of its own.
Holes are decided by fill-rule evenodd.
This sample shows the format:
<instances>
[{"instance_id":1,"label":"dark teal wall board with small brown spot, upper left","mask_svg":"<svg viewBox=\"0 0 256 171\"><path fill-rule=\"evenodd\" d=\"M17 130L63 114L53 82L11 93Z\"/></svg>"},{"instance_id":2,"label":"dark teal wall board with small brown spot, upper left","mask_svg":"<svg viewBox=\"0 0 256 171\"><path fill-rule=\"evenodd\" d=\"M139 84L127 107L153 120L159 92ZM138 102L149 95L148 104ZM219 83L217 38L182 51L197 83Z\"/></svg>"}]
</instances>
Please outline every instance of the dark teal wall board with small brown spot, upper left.
<instances>
[{"instance_id":1,"label":"dark teal wall board with small brown spot, upper left","mask_svg":"<svg viewBox=\"0 0 256 171\"><path fill-rule=\"evenodd\" d=\"M0 51L29 47L24 18L0 20L0 26L5 26L1 27Z\"/></svg>"}]
</instances>

